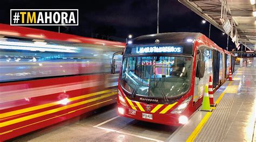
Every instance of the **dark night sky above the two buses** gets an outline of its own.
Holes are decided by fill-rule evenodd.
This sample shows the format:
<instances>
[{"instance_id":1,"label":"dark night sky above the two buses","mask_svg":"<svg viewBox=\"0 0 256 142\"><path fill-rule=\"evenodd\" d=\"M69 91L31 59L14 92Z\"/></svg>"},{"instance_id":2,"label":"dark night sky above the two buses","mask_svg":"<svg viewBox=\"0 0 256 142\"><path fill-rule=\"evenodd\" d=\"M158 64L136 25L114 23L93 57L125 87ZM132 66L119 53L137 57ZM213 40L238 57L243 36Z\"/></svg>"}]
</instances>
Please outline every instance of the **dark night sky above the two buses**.
<instances>
[{"instance_id":1,"label":"dark night sky above the two buses","mask_svg":"<svg viewBox=\"0 0 256 142\"><path fill-rule=\"evenodd\" d=\"M126 1L1 1L0 23L10 24L10 9L78 9L79 26L61 27L60 32L91 37L104 27L111 27L114 37L133 38L157 32L157 0ZM160 0L159 32L200 32L208 36L209 23L202 24L200 16L175 0ZM58 32L58 26L30 26ZM222 48L227 46L227 35L211 28L211 40ZM229 49L235 46L229 41Z\"/></svg>"}]
</instances>

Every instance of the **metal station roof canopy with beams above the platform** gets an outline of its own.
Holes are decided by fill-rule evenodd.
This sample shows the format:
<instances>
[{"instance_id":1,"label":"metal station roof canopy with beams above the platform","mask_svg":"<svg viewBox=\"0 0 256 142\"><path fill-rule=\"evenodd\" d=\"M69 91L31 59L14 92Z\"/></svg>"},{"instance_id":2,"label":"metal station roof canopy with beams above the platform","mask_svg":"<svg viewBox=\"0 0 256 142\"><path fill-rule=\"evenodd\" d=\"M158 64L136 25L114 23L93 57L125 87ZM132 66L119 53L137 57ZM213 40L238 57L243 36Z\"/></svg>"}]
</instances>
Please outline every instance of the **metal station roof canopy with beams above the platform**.
<instances>
[{"instance_id":1,"label":"metal station roof canopy with beams above the platform","mask_svg":"<svg viewBox=\"0 0 256 142\"><path fill-rule=\"evenodd\" d=\"M179 0L179 2L227 33L237 44L239 42L254 50L256 44L255 0ZM230 32L228 29L231 29Z\"/></svg>"}]
</instances>

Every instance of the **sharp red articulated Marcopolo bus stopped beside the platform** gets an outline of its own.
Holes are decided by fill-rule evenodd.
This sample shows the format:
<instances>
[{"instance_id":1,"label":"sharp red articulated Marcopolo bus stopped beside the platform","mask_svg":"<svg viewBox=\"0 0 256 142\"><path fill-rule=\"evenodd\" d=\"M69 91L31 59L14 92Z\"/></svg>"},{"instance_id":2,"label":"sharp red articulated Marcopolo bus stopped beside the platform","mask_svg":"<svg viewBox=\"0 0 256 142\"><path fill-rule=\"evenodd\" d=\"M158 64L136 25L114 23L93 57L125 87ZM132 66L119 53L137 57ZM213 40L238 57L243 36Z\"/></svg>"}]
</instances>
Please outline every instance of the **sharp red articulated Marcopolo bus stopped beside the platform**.
<instances>
[{"instance_id":1,"label":"sharp red articulated Marcopolo bus stopped beside the platform","mask_svg":"<svg viewBox=\"0 0 256 142\"><path fill-rule=\"evenodd\" d=\"M201 33L137 37L126 45L123 54L119 115L167 125L184 124L201 105L210 75L216 90L227 79L230 67L233 72L234 55Z\"/></svg>"}]
</instances>

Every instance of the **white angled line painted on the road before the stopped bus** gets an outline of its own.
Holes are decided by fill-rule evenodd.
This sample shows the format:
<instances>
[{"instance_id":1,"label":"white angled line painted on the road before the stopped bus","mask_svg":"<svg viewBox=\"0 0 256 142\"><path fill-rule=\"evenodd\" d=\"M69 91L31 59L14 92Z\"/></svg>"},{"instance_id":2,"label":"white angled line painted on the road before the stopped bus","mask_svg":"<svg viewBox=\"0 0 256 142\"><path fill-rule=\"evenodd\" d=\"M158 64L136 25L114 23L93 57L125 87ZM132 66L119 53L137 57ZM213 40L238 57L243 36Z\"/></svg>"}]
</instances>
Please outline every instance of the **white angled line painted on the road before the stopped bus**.
<instances>
[{"instance_id":1,"label":"white angled line painted on the road before the stopped bus","mask_svg":"<svg viewBox=\"0 0 256 142\"><path fill-rule=\"evenodd\" d=\"M126 134L126 135L129 135L129 136L137 137L137 138L143 138L143 139L147 139L147 140L163 142L163 140L158 140L158 139L153 139L153 138L147 138L147 137L144 137L144 136L139 136L139 135L137 135L137 134L121 132L121 131L117 131L117 130L113 130L113 129L107 129L107 128L105 128L105 127L99 127L100 125L103 125L103 124L105 124L105 123L107 123L107 122L110 122L110 121L112 121L113 119L116 119L116 118L118 118L118 117L120 117L120 116L116 116L116 117L113 117L113 118L111 118L111 119L109 119L109 120L105 120L104 122L99 123L99 124L97 124L97 125L95 125L95 126L93 126L93 127L96 127L96 128L98 128L98 129L102 129L102 130L106 130L106 131L110 131L110 132L122 133L122 134Z\"/></svg>"}]
</instances>

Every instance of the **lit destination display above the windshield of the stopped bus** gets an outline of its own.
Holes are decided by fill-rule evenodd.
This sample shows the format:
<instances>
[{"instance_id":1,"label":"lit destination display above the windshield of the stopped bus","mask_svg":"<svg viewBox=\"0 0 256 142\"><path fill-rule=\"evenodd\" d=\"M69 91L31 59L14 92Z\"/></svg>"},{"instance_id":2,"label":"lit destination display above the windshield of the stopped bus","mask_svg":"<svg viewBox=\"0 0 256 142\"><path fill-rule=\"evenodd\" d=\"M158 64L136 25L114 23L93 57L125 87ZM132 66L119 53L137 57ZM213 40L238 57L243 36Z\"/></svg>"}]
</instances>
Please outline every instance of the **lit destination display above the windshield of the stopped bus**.
<instances>
[{"instance_id":1,"label":"lit destination display above the windshield of the stopped bus","mask_svg":"<svg viewBox=\"0 0 256 142\"><path fill-rule=\"evenodd\" d=\"M134 47L132 48L132 54L136 52L137 54L143 53L183 53L183 47L177 46L148 46L148 47Z\"/></svg>"}]
</instances>

